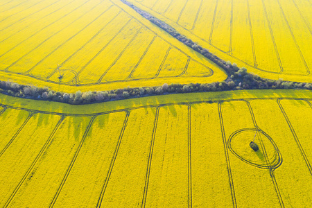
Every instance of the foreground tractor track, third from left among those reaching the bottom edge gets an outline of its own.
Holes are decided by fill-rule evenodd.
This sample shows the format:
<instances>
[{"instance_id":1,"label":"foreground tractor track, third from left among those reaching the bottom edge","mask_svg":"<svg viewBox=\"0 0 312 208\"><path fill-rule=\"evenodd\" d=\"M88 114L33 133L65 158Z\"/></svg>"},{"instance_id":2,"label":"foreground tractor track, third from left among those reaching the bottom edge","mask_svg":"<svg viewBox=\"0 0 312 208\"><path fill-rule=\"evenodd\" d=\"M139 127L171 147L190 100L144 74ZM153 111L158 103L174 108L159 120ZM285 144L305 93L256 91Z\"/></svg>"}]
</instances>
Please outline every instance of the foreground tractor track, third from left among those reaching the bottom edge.
<instances>
[{"instance_id":1,"label":"foreground tractor track, third from left among those reaching the bottom edge","mask_svg":"<svg viewBox=\"0 0 312 208\"><path fill-rule=\"evenodd\" d=\"M130 115L130 112L128 110L125 111L125 120L123 121L123 127L121 128L121 132L120 132L120 135L119 135L119 139L117 141L117 145L116 145L116 148L115 148L115 151L114 151L114 155L112 157L112 161L110 162L110 168L107 171L107 175L105 177L105 182L103 184L103 187L102 187L102 190L101 190L101 194L100 194L100 196L98 198L98 202L96 204L96 207L101 207L101 205L102 205L104 193L105 193L107 184L110 181L110 175L112 174L112 170L114 168L114 163L115 163L116 157L118 155L119 147L120 147L121 141L123 139L123 133L125 132L125 128L128 125L129 115Z\"/></svg>"}]
</instances>

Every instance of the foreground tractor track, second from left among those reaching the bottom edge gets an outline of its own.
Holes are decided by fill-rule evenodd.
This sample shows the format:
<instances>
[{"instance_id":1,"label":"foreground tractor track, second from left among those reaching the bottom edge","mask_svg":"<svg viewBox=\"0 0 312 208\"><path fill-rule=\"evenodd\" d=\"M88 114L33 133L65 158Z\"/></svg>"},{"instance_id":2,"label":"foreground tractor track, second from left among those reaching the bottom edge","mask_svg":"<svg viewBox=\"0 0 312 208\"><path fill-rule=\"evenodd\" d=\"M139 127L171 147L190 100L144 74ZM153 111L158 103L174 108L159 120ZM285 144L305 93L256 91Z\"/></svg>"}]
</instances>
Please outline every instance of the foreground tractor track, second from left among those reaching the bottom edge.
<instances>
[{"instance_id":1,"label":"foreground tractor track, second from left among those reaching the bottom edge","mask_svg":"<svg viewBox=\"0 0 312 208\"><path fill-rule=\"evenodd\" d=\"M62 191L62 188L63 188L63 186L67 180L67 177L69 176L69 173L71 173L71 168L73 168L73 164L76 162L76 159L78 157L80 149L83 146L83 143L85 142L85 138L87 137L89 130L90 130L90 128L94 122L94 119L96 119L96 117L97 117L97 115L94 115L90 119L89 124L87 125L87 128L85 130L85 133L83 134L83 138L81 139L80 144L76 150L76 153L75 153L75 155L73 155L73 159L71 159L71 164L69 164L69 167L68 167L68 169L67 169L67 171L66 171L66 173L62 179L62 182L60 183L60 187L58 187L58 191L56 191L55 196L53 197L53 200L52 200L51 204L49 205L49 207L53 207L56 200L58 199L58 196L60 195L60 191Z\"/></svg>"}]
</instances>

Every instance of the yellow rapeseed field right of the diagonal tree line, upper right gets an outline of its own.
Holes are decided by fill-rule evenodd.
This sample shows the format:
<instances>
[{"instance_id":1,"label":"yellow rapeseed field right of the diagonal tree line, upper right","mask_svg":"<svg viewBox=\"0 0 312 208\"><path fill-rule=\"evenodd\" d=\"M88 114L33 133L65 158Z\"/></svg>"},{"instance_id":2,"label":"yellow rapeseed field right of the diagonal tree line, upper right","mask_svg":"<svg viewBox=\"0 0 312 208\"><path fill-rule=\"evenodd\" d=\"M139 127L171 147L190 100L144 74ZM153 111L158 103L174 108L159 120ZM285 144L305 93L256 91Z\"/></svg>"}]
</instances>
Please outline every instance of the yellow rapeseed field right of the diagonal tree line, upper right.
<instances>
[{"instance_id":1,"label":"yellow rapeseed field right of the diagonal tree line, upper right","mask_svg":"<svg viewBox=\"0 0 312 208\"><path fill-rule=\"evenodd\" d=\"M310 1L129 1L259 76L312 80Z\"/></svg>"}]
</instances>

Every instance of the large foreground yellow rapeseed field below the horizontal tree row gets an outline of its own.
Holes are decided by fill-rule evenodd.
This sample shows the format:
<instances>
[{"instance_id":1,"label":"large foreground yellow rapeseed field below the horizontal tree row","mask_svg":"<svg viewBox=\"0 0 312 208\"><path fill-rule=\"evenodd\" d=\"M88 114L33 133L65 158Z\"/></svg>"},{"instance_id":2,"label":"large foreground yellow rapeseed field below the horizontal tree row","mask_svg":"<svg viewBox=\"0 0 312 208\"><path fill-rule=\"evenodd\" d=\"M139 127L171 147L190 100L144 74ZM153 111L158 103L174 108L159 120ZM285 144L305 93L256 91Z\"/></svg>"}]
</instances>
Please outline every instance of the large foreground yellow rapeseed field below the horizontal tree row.
<instances>
[{"instance_id":1,"label":"large foreground yellow rapeseed field below the horizontal tree row","mask_svg":"<svg viewBox=\"0 0 312 208\"><path fill-rule=\"evenodd\" d=\"M311 102L308 90L92 106L0 94L0 206L311 207Z\"/></svg>"}]
</instances>

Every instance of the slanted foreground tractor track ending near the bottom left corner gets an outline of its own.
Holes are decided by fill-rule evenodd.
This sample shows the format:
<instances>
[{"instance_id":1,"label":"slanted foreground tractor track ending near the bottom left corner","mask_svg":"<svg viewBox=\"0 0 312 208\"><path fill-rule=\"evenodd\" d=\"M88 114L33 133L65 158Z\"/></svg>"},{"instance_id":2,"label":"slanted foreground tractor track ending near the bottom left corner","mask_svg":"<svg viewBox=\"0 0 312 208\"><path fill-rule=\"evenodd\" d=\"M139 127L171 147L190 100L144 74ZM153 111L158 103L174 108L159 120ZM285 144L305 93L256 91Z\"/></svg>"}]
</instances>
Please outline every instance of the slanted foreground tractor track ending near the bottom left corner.
<instances>
[{"instance_id":1,"label":"slanted foreground tractor track ending near the bottom left corner","mask_svg":"<svg viewBox=\"0 0 312 208\"><path fill-rule=\"evenodd\" d=\"M12 199L14 198L15 194L17 193L17 191L19 191L19 188L21 187L21 185L24 183L24 181L26 180L26 178L28 177L29 173L31 173L31 171L33 171L33 167L35 166L35 164L37 164L37 161L40 159L40 157L42 156L42 153L44 153L44 150L46 150L46 147L48 146L48 144L50 143L51 139L53 138L55 132L58 130L58 128L60 127L60 124L62 123L62 121L64 121L64 116L61 116L60 120L58 121L58 123L55 125L55 128L53 129L53 132L51 133L51 135L49 136L48 140L46 140L46 143L44 144L44 146L41 148L39 154L37 155L37 157L35 157L35 160L33 161L33 163L31 164L31 166L28 168L28 171L25 173L25 175L22 177L22 179L19 181L19 184L17 184L17 187L15 187L13 193L11 194L10 198L8 198L8 200L6 201L6 204L3 207L8 207L8 205L10 204L10 202L12 201Z\"/></svg>"}]
</instances>

